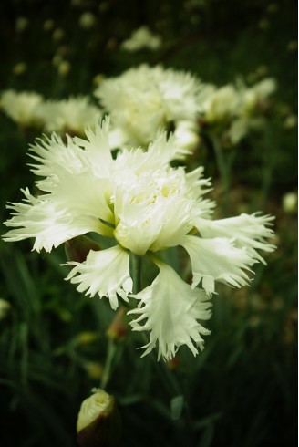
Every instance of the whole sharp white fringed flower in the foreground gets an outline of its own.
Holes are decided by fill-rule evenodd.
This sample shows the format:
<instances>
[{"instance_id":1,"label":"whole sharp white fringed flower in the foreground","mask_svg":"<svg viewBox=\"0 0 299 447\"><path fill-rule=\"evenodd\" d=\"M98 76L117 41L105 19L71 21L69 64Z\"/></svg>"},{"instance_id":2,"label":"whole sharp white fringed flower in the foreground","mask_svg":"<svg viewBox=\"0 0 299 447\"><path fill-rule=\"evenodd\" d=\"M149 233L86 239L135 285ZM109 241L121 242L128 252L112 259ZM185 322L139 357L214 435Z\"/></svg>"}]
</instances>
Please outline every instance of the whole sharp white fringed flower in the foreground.
<instances>
[{"instance_id":1,"label":"whole sharp white fringed flower in the foreground","mask_svg":"<svg viewBox=\"0 0 299 447\"><path fill-rule=\"evenodd\" d=\"M168 99L180 116L180 104L171 94ZM252 266L264 262L258 250L274 249L266 242L273 235L273 217L254 213L211 220L215 203L204 198L210 180L202 176L202 167L186 172L170 166L180 151L165 134L148 151L123 149L116 157L108 119L88 129L86 137L67 136L64 142L53 134L31 147L39 193L25 189L22 203L8 205L13 213L5 222L11 228L5 241L33 237L36 251L50 252L81 234L110 237L111 248L90 250L84 262L69 262L67 279L80 292L107 296L113 309L119 301L135 303L128 312L130 325L149 331L143 355L156 345L159 359L172 359L180 345L196 355L202 336L210 333L201 322L211 317L215 283L250 283ZM161 260L160 252L174 246L190 256L191 285ZM148 256L159 268L152 284L136 294L130 254Z\"/></svg>"}]
</instances>

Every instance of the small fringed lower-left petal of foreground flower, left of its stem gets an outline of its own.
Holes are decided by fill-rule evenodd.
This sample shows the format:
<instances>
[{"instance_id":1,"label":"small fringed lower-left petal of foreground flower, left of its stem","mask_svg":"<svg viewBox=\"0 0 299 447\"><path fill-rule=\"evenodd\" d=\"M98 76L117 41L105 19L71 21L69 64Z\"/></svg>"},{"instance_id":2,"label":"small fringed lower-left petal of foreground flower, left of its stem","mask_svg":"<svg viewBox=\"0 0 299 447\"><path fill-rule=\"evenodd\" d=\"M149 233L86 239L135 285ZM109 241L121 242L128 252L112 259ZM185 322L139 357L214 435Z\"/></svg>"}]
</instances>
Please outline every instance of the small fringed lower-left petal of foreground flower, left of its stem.
<instances>
[{"instance_id":1,"label":"small fringed lower-left petal of foreground flower, left of its stem","mask_svg":"<svg viewBox=\"0 0 299 447\"><path fill-rule=\"evenodd\" d=\"M132 292L132 279L129 275L129 252L119 245L107 250L90 251L84 263L68 263L75 265L67 276L73 284L78 284L79 292L86 295L108 296L112 309L119 306L118 296L128 301Z\"/></svg>"}]
</instances>

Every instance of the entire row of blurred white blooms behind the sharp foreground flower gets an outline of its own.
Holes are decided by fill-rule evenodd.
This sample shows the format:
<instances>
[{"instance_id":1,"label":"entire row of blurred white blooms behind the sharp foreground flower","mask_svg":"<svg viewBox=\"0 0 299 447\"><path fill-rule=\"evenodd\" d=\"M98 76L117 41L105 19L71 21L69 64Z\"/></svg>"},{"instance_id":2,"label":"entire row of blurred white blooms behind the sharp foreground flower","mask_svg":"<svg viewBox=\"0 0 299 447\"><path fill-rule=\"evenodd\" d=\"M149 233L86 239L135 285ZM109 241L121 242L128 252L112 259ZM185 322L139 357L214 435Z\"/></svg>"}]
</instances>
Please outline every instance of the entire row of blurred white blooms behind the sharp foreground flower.
<instances>
[{"instance_id":1,"label":"entire row of blurred white blooms behind the sharp foreground flower","mask_svg":"<svg viewBox=\"0 0 299 447\"><path fill-rule=\"evenodd\" d=\"M180 149L192 151L201 132L237 144L250 130L261 129L275 88L273 78L250 88L241 80L217 88L188 72L143 64L101 80L94 91L100 108L87 96L45 100L35 92L14 90L2 92L0 104L23 127L80 136L105 110L111 117L112 148L147 148L161 130L167 130L173 131Z\"/></svg>"}]
</instances>

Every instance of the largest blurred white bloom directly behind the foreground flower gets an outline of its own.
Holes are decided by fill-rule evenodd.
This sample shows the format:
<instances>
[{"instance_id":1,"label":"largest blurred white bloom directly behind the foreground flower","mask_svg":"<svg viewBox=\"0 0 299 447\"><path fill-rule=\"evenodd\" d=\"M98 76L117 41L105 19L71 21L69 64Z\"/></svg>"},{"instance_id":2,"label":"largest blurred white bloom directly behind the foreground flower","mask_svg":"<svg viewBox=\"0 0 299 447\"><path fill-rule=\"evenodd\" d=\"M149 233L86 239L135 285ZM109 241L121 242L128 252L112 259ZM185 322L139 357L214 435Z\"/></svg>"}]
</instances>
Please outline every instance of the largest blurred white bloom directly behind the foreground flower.
<instances>
[{"instance_id":1,"label":"largest blurred white bloom directly behind the foreground flower","mask_svg":"<svg viewBox=\"0 0 299 447\"><path fill-rule=\"evenodd\" d=\"M159 130L197 120L202 91L200 81L189 73L141 65L104 79L95 95L111 115L113 140L122 148L147 147Z\"/></svg>"}]
</instances>

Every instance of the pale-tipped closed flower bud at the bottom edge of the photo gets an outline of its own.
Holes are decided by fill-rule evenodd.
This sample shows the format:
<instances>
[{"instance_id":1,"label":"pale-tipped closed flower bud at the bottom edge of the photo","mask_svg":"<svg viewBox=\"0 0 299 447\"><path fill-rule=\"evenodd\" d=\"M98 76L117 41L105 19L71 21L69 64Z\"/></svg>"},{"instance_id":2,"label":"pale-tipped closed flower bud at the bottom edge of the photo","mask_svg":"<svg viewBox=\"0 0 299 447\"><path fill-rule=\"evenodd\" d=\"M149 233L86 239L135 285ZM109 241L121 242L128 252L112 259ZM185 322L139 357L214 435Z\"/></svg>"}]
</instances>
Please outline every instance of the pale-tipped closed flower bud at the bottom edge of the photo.
<instances>
[{"instance_id":1,"label":"pale-tipped closed flower bud at the bottom edge of the photo","mask_svg":"<svg viewBox=\"0 0 299 447\"><path fill-rule=\"evenodd\" d=\"M77 417L80 447L116 447L120 439L120 416L113 396L95 389L83 400Z\"/></svg>"}]
</instances>

